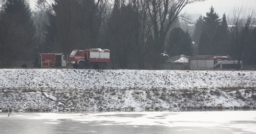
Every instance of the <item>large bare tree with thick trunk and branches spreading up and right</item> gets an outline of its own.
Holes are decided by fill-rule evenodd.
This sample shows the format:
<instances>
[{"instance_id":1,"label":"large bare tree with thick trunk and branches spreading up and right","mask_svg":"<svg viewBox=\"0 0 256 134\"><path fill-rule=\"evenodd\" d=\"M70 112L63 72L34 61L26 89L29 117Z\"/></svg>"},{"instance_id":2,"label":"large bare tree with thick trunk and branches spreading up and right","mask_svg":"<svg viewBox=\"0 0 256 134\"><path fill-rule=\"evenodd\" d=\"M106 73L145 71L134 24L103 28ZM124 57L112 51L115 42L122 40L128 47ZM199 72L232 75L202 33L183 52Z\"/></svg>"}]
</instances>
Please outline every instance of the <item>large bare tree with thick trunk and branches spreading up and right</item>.
<instances>
[{"instance_id":1,"label":"large bare tree with thick trunk and branches spreading up and right","mask_svg":"<svg viewBox=\"0 0 256 134\"><path fill-rule=\"evenodd\" d=\"M190 3L205 0L149 0L148 11L153 22L154 53L153 69L159 68L159 53L164 51L164 44L170 26L181 18L181 10Z\"/></svg>"}]
</instances>

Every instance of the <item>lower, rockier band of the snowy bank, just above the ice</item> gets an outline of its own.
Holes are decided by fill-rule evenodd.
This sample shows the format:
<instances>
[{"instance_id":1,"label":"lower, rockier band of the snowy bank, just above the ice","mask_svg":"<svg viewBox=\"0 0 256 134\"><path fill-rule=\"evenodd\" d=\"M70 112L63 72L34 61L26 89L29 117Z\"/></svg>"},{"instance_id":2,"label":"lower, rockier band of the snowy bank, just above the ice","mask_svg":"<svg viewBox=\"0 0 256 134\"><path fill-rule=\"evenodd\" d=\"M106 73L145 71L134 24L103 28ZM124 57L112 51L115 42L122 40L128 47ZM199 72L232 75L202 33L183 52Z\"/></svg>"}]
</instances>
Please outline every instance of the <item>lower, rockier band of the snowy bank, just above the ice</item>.
<instances>
[{"instance_id":1,"label":"lower, rockier band of the snowy bank, just above the ice","mask_svg":"<svg viewBox=\"0 0 256 134\"><path fill-rule=\"evenodd\" d=\"M256 109L256 89L0 89L0 112Z\"/></svg>"}]
</instances>

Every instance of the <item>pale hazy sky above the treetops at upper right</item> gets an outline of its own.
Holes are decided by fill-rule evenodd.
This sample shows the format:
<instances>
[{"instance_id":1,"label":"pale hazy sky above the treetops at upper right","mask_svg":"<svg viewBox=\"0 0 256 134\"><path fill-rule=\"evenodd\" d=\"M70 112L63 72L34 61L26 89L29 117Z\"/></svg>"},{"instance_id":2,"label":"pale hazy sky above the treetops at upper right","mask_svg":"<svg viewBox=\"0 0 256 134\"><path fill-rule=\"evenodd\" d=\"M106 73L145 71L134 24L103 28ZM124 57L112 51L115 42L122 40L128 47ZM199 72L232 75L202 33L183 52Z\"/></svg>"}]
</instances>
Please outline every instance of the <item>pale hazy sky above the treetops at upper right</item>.
<instances>
[{"instance_id":1,"label":"pale hazy sky above the treetops at upper right","mask_svg":"<svg viewBox=\"0 0 256 134\"><path fill-rule=\"evenodd\" d=\"M187 10L188 14L201 14L206 16L206 12L209 12L211 6L213 6L218 15L222 16L224 13L228 15L232 9L240 7L241 5L255 10L256 0L207 0L205 2L189 4L185 7L185 10Z\"/></svg>"}]
</instances>

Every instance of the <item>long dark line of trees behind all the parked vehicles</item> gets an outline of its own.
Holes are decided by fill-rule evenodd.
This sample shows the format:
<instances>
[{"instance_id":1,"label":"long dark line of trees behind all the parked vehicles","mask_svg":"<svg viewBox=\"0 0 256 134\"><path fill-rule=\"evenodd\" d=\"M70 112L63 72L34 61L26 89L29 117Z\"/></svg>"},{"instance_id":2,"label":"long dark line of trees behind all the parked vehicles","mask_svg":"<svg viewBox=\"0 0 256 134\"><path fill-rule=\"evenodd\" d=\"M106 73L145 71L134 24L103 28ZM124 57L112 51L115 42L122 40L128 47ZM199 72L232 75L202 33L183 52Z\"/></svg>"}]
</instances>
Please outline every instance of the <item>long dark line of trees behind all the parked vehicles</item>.
<instances>
[{"instance_id":1,"label":"long dark line of trees behind all the parked vehicles","mask_svg":"<svg viewBox=\"0 0 256 134\"><path fill-rule=\"evenodd\" d=\"M180 20L186 18L181 10L200 1L37 0L34 11L26 0L2 1L0 60L9 66L13 59L33 60L37 53L68 54L86 48L110 49L113 69L160 69L166 58L159 53L164 52L170 57L255 57L255 18L247 27L240 24L247 18L238 18L239 24L230 28L226 16L219 19L212 7L195 23L193 36L181 29ZM236 17L234 12L232 20Z\"/></svg>"}]
</instances>

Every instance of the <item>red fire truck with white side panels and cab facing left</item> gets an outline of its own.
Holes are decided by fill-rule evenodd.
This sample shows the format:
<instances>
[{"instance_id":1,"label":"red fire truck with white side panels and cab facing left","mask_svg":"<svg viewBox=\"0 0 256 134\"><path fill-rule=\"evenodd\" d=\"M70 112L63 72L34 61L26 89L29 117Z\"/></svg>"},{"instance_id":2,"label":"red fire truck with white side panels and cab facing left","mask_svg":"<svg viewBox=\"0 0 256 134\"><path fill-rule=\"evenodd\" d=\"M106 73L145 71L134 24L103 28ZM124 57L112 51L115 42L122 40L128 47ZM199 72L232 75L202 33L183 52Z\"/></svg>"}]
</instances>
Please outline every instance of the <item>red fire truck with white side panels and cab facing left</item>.
<instances>
[{"instance_id":1,"label":"red fire truck with white side panels and cab facing left","mask_svg":"<svg viewBox=\"0 0 256 134\"><path fill-rule=\"evenodd\" d=\"M105 69L110 62L110 50L91 48L73 50L69 55L69 63L73 68L84 69L92 66L94 69Z\"/></svg>"}]
</instances>

